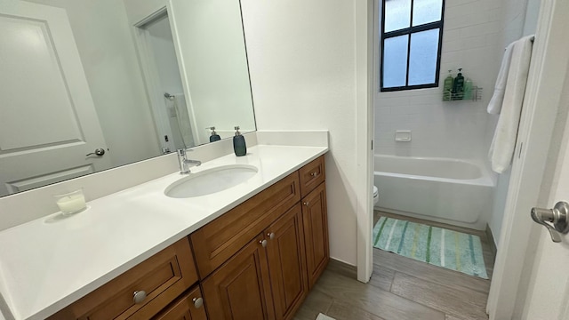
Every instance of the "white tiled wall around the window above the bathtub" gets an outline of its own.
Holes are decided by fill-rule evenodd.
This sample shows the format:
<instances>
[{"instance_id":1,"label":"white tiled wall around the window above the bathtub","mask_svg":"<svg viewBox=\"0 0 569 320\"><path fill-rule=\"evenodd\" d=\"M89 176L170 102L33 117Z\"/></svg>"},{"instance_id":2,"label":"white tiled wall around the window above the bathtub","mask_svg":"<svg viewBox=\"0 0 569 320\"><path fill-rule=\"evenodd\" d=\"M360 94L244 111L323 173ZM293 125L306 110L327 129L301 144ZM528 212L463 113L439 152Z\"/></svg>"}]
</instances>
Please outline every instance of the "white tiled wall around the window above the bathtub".
<instances>
[{"instance_id":1,"label":"white tiled wall around the window above the bathtub","mask_svg":"<svg viewBox=\"0 0 569 320\"><path fill-rule=\"evenodd\" d=\"M495 122L486 113L500 67L501 1L446 1L438 88L379 92L375 100L375 153L485 159ZM378 28L380 28L378 26ZM484 88L481 101L442 101L448 70ZM396 142L411 130L411 142Z\"/></svg>"}]
</instances>

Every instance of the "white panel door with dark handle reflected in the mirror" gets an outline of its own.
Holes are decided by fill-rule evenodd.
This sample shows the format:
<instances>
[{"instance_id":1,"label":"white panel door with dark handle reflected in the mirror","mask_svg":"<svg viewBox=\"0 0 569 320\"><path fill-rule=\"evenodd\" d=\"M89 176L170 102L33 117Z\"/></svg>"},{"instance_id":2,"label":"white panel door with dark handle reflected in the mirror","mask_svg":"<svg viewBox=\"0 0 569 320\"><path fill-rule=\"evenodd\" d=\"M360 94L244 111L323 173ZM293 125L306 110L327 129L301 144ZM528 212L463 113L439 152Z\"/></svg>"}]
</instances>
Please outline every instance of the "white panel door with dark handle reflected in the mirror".
<instances>
[{"instance_id":1,"label":"white panel door with dark handle reflected in the mirror","mask_svg":"<svg viewBox=\"0 0 569 320\"><path fill-rule=\"evenodd\" d=\"M67 13L3 0L0 196L107 169L95 148L108 151Z\"/></svg>"}]
</instances>

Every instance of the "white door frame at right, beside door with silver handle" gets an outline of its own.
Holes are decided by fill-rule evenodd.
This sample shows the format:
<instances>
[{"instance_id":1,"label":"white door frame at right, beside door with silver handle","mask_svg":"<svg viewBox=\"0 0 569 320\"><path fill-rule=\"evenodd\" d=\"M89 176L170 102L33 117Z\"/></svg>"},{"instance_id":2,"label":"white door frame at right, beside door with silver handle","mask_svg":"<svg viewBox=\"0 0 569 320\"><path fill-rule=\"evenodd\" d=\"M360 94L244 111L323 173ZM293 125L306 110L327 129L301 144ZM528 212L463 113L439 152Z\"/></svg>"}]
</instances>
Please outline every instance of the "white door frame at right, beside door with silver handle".
<instances>
[{"instance_id":1,"label":"white door frame at right, beside door with silver handle","mask_svg":"<svg viewBox=\"0 0 569 320\"><path fill-rule=\"evenodd\" d=\"M539 226L530 219L529 212L533 206L547 205L549 197L545 195L549 188L543 175L548 164L553 124L565 79L565 71L558 70L565 70L569 64L569 44L565 43L565 29L560 28L567 25L564 13L567 14L568 10L563 2L564 0L541 2L501 236L486 306L490 319L512 318L517 301L525 298L526 288L522 281L527 280L522 275L527 271L525 268L531 268L533 251L540 235L533 232ZM559 8L565 9L565 12L557 10ZM552 50L552 45L555 45L555 50ZM525 263L528 261L530 263Z\"/></svg>"}]
</instances>

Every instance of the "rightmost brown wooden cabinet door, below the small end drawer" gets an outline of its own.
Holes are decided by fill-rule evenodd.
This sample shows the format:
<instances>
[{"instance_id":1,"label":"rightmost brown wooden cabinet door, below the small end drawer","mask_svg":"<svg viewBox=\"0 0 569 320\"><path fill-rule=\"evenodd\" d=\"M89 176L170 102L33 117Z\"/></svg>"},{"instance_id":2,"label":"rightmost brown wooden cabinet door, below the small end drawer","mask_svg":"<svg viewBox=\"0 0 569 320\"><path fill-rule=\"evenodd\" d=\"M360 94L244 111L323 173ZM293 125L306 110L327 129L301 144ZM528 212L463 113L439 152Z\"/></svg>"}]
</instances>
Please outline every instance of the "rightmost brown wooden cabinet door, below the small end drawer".
<instances>
[{"instance_id":1,"label":"rightmost brown wooden cabinet door, below the small end drawer","mask_svg":"<svg viewBox=\"0 0 569 320\"><path fill-rule=\"evenodd\" d=\"M330 260L325 182L302 199L302 221L309 287L312 288Z\"/></svg>"}]
</instances>

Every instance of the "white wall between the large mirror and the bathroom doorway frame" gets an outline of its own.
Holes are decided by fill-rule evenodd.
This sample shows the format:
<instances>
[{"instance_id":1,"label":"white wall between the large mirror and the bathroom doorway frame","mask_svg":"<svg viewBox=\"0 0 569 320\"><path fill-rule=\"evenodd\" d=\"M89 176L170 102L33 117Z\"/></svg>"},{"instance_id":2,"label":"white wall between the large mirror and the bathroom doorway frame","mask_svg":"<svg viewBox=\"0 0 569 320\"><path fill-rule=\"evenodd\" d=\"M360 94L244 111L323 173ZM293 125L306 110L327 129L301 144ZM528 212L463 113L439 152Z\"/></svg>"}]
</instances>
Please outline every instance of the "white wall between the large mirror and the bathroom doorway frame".
<instances>
[{"instance_id":1,"label":"white wall between the large mirror and the bathroom doorway frame","mask_svg":"<svg viewBox=\"0 0 569 320\"><path fill-rule=\"evenodd\" d=\"M330 251L357 261L353 1L242 0L257 127L328 129ZM366 20L366 16L359 17ZM365 138L365 137L364 137Z\"/></svg>"}]
</instances>

